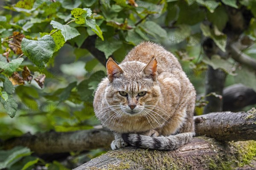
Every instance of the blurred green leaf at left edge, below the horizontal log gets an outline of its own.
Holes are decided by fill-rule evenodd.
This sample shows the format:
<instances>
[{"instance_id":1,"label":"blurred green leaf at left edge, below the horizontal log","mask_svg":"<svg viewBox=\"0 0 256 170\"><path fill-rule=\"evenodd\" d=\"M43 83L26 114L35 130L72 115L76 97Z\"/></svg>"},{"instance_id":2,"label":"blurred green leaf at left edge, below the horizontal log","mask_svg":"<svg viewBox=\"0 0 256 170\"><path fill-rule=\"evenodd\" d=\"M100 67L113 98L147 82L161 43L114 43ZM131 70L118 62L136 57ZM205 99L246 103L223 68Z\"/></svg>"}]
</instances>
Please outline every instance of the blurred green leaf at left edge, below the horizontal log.
<instances>
[{"instance_id":1,"label":"blurred green leaf at left edge, below the horizontal log","mask_svg":"<svg viewBox=\"0 0 256 170\"><path fill-rule=\"evenodd\" d=\"M9 168L22 157L30 155L32 152L27 147L16 146L11 150L0 150L0 169Z\"/></svg>"}]
</instances>

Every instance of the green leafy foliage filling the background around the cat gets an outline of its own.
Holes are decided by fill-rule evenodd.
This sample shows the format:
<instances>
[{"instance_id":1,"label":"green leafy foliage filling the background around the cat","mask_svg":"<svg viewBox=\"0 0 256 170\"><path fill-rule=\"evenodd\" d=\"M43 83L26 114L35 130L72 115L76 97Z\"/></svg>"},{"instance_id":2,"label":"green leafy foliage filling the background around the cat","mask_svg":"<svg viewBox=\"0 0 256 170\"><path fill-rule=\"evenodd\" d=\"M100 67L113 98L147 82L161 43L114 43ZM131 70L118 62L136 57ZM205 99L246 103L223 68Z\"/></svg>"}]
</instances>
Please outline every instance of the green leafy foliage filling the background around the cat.
<instances>
[{"instance_id":1,"label":"green leafy foliage filling the background around the cat","mask_svg":"<svg viewBox=\"0 0 256 170\"><path fill-rule=\"evenodd\" d=\"M105 59L117 62L142 41L164 45L180 59L198 94L204 93L207 65L228 74L226 86L241 82L256 90L255 71L232 58L209 59L203 52L205 37L226 51L227 6L251 12L242 34L255 42L254 0L2 0L0 138L99 125L92 101L106 76L105 65L84 47L89 37L96 39L95 48ZM255 43L243 53L255 58ZM1 150L0 169L68 169L102 151L70 153L68 161L47 162L17 146Z\"/></svg>"}]
</instances>

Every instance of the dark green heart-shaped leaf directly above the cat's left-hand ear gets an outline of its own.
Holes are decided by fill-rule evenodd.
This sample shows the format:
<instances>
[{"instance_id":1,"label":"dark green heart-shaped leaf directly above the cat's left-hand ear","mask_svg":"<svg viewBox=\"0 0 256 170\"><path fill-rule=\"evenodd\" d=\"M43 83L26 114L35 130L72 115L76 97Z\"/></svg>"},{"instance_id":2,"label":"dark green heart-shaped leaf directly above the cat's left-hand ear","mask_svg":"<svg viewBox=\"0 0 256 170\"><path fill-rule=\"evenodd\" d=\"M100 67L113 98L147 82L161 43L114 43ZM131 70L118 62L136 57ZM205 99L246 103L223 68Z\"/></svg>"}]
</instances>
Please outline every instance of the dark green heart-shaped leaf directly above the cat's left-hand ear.
<instances>
[{"instance_id":1,"label":"dark green heart-shaped leaf directly above the cat's left-hand ear","mask_svg":"<svg viewBox=\"0 0 256 170\"><path fill-rule=\"evenodd\" d=\"M122 46L122 42L120 40L110 38L109 40L102 41L100 39L96 40L95 47L99 49L99 51L104 52L105 57L108 58L114 51Z\"/></svg>"}]
</instances>

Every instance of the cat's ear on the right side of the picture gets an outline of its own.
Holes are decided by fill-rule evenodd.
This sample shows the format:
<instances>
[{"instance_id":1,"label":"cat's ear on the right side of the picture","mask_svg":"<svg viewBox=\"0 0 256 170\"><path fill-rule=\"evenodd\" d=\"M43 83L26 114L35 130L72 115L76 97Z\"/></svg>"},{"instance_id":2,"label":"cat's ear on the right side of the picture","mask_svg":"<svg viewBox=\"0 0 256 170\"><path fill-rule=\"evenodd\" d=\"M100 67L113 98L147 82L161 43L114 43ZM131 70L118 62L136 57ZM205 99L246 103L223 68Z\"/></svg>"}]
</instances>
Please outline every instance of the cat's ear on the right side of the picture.
<instances>
[{"instance_id":1,"label":"cat's ear on the right side of the picture","mask_svg":"<svg viewBox=\"0 0 256 170\"><path fill-rule=\"evenodd\" d=\"M157 59L152 57L142 72L155 81L157 79Z\"/></svg>"}]
</instances>

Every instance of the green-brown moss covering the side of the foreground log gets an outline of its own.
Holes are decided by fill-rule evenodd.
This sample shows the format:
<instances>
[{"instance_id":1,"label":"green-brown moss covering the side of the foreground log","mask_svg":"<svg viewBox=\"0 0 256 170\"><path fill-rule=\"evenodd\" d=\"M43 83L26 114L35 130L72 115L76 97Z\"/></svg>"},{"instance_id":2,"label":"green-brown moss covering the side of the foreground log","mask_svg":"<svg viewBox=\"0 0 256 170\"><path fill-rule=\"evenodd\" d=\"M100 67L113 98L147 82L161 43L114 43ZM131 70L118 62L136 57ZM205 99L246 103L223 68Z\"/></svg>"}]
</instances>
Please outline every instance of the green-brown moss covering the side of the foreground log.
<instances>
[{"instance_id":1,"label":"green-brown moss covering the side of the foreground log","mask_svg":"<svg viewBox=\"0 0 256 170\"><path fill-rule=\"evenodd\" d=\"M204 168L210 170L233 170L238 166L250 165L252 159L256 160L256 141L218 142L207 137L200 138L208 143L212 152L215 152L213 155L195 154L191 155L193 159L186 159L180 154L170 154L164 150L129 147L108 152L108 156L121 159L123 163L122 166L110 165L103 170L122 170L141 166L146 170L190 170L196 168L196 164L204 164ZM139 166L130 167L131 162Z\"/></svg>"}]
</instances>

